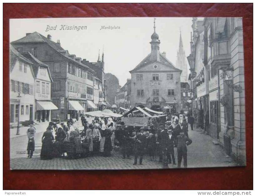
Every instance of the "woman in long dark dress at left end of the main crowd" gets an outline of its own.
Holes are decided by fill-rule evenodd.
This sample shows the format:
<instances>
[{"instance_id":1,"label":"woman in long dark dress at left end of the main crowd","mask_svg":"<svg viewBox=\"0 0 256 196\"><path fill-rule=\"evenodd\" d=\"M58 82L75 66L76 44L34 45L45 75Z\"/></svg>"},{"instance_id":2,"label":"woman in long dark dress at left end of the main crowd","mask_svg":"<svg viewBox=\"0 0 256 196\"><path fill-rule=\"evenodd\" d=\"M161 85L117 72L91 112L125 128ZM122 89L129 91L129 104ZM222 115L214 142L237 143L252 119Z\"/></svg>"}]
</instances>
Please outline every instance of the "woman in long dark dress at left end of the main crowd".
<instances>
[{"instance_id":1,"label":"woman in long dark dress at left end of the main crowd","mask_svg":"<svg viewBox=\"0 0 256 196\"><path fill-rule=\"evenodd\" d=\"M41 159L52 159L52 140L54 140L54 136L52 134L52 127L48 127L46 132L43 133L42 137L42 149L40 154Z\"/></svg>"}]
</instances>

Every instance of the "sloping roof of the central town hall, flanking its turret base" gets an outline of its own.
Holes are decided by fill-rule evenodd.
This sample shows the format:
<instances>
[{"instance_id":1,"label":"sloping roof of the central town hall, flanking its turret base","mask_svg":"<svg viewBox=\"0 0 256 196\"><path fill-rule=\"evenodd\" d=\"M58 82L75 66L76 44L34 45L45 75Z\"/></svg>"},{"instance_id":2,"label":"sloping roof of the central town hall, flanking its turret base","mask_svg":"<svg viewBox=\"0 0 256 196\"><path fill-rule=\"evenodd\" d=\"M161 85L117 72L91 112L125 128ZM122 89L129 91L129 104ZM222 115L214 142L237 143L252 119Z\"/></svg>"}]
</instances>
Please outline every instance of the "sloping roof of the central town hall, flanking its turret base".
<instances>
[{"instance_id":1,"label":"sloping roof of the central town hall, flanking its turret base","mask_svg":"<svg viewBox=\"0 0 256 196\"><path fill-rule=\"evenodd\" d=\"M146 58L144 58L133 70L131 70L130 73L137 71L140 68L147 66L148 64L155 63L156 61L154 61L154 62L150 61L150 55L151 55L151 53L149 55L147 55ZM175 68L175 66L163 54L160 53L159 55L160 55L160 61L158 63L167 65L170 68L176 70L177 72L182 72L180 69Z\"/></svg>"}]
</instances>

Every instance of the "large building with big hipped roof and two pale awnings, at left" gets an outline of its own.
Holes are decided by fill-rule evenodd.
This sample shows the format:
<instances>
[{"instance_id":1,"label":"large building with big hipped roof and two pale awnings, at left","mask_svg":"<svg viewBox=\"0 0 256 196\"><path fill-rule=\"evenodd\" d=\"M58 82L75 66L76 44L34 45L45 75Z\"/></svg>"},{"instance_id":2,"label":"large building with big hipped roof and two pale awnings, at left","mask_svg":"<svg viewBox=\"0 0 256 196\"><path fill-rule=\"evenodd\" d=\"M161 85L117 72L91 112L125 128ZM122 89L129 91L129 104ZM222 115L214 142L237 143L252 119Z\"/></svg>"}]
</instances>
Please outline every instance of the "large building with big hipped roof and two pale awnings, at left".
<instances>
[{"instance_id":1,"label":"large building with big hipped roof and two pale awnings, at left","mask_svg":"<svg viewBox=\"0 0 256 196\"><path fill-rule=\"evenodd\" d=\"M56 43L51 35L45 37L34 32L11 44L49 66L53 80L51 97L58 107L52 110L52 117L58 114L61 119L74 118L88 108L97 108L93 102L96 72L82 63L81 58L63 49L59 40Z\"/></svg>"}]
</instances>

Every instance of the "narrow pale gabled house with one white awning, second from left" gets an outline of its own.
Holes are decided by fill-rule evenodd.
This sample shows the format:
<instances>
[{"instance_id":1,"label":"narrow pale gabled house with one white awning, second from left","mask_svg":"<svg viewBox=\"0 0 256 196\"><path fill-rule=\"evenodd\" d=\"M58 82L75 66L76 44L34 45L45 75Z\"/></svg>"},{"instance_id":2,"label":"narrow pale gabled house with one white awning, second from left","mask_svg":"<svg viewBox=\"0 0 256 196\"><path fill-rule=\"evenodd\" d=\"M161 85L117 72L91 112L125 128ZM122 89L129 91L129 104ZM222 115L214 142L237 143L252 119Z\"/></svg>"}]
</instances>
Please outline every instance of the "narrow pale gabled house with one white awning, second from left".
<instances>
[{"instance_id":1,"label":"narrow pale gabled house with one white awning, second from left","mask_svg":"<svg viewBox=\"0 0 256 196\"><path fill-rule=\"evenodd\" d=\"M42 63L30 52L21 53L22 56L31 61L35 74L35 120L37 122L51 121L51 110L57 110L57 106L51 101L52 77L47 64ZM21 75L22 77L22 75Z\"/></svg>"}]
</instances>

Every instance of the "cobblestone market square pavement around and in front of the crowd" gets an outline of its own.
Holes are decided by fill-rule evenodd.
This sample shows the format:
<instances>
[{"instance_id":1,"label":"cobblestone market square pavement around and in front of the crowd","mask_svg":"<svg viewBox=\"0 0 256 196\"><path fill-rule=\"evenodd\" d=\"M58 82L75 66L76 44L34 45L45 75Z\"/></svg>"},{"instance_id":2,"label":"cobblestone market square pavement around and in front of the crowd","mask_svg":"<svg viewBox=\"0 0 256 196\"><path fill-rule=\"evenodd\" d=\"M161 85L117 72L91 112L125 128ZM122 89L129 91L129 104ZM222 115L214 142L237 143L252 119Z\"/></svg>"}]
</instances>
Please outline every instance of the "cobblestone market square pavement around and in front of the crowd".
<instances>
[{"instance_id":1,"label":"cobblestone market square pavement around and in front of the crowd","mask_svg":"<svg viewBox=\"0 0 256 196\"><path fill-rule=\"evenodd\" d=\"M149 156L143 158L143 165L133 166L132 159L122 159L119 151L112 151L111 157L91 156L80 159L54 158L41 160L42 132L35 135L35 152L30 159L27 158L27 136L11 138L11 169L38 169L38 170L102 170L102 169L161 169L162 163L158 160L150 161ZM214 145L209 135L204 135L199 130L189 130L192 144L188 146L188 167L226 167L239 166L219 145ZM175 148L176 154L176 148ZM158 158L158 157L157 157ZM176 156L177 163L177 156ZM183 164L183 163L182 163ZM176 168L177 165L168 165Z\"/></svg>"}]
</instances>

